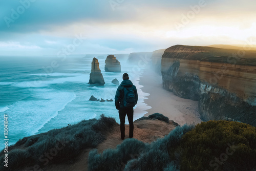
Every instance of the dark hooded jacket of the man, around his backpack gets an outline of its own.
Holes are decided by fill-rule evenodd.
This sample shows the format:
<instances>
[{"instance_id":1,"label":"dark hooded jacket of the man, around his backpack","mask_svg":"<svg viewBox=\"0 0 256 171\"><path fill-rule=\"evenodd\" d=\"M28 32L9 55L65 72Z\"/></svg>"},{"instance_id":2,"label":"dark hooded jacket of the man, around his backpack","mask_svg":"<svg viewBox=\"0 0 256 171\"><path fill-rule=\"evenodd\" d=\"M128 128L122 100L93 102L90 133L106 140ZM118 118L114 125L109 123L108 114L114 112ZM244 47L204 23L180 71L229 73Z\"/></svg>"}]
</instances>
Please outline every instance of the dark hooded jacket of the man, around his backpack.
<instances>
[{"instance_id":1,"label":"dark hooded jacket of the man, around his backpack","mask_svg":"<svg viewBox=\"0 0 256 171\"><path fill-rule=\"evenodd\" d=\"M134 91L134 94L135 94L135 99L136 99L136 104L137 104L137 101L138 101L138 93L137 93L137 89L136 87L134 86L134 84L132 83L131 80L129 79L125 79L121 82L121 84L119 85L119 87L117 88L116 90L116 96L115 96L115 105L116 105L116 109L120 109L120 108L124 108L124 105L123 105L123 89L124 88L130 88L132 87L133 88L133 91Z\"/></svg>"}]
</instances>

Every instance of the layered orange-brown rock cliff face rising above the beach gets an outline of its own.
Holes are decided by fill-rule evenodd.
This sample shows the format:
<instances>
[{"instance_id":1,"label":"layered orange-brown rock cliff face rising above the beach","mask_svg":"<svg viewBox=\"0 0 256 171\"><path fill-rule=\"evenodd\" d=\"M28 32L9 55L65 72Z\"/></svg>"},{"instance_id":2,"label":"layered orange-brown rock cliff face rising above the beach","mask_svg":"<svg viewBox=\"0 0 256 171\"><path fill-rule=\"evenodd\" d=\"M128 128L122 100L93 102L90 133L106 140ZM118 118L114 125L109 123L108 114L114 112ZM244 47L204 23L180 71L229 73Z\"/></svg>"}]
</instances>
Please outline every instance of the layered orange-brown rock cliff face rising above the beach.
<instances>
[{"instance_id":1,"label":"layered orange-brown rock cliff face rising above the beach","mask_svg":"<svg viewBox=\"0 0 256 171\"><path fill-rule=\"evenodd\" d=\"M165 50L161 72L164 89L199 100L204 120L256 126L256 51L176 45Z\"/></svg>"}]
</instances>

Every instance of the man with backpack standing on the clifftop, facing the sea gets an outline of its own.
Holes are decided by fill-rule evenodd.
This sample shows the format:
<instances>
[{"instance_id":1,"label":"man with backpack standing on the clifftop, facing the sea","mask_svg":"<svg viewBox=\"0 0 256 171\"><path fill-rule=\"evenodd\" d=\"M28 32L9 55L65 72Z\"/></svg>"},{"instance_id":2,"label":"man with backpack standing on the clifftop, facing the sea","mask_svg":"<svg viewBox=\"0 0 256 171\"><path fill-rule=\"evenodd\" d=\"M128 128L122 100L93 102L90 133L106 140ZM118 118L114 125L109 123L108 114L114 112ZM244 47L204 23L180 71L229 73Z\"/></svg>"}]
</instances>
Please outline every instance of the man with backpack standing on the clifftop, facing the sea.
<instances>
[{"instance_id":1,"label":"man with backpack standing on the clifftop, facing the sea","mask_svg":"<svg viewBox=\"0 0 256 171\"><path fill-rule=\"evenodd\" d=\"M133 85L132 81L129 80L129 75L127 73L123 74L123 81L117 88L115 96L115 105L119 113L120 118L120 131L121 139L124 139L124 122L125 116L127 115L129 121L129 137L133 138L133 107L137 104L138 93L136 87Z\"/></svg>"}]
</instances>

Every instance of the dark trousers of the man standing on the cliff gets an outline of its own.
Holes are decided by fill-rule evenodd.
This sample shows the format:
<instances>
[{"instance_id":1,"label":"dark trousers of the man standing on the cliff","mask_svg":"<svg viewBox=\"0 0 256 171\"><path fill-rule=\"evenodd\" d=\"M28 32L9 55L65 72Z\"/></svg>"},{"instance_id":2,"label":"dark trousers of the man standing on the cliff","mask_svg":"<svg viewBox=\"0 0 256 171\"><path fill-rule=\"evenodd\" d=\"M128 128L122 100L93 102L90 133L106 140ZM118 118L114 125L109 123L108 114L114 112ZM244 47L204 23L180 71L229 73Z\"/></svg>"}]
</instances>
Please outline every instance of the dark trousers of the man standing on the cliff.
<instances>
[{"instance_id":1,"label":"dark trousers of the man standing on the cliff","mask_svg":"<svg viewBox=\"0 0 256 171\"><path fill-rule=\"evenodd\" d=\"M120 118L120 131L121 131L121 138L124 139L124 122L125 122L125 116L127 114L128 121L129 121L129 137L133 138L133 107L129 108L121 108L119 109L119 118Z\"/></svg>"}]
</instances>

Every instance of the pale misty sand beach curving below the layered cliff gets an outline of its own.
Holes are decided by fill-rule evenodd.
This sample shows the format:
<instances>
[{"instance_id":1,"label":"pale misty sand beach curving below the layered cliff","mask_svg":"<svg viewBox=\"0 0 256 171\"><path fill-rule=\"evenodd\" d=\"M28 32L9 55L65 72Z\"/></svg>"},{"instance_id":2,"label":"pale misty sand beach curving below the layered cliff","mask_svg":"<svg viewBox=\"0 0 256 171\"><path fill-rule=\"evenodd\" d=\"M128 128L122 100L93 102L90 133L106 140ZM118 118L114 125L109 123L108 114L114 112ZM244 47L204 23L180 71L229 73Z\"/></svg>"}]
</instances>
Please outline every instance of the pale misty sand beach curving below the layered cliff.
<instances>
[{"instance_id":1,"label":"pale misty sand beach curving below the layered cliff","mask_svg":"<svg viewBox=\"0 0 256 171\"><path fill-rule=\"evenodd\" d=\"M173 120L180 125L185 123L201 123L200 114L198 112L198 101L183 99L172 92L163 89L162 76L157 74L153 69L147 68L141 75L139 84L143 92L150 95L144 102L151 106L146 110L144 116L154 113L161 113L167 116L169 120Z\"/></svg>"}]
</instances>

